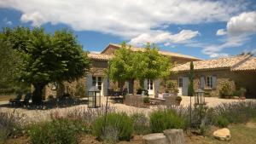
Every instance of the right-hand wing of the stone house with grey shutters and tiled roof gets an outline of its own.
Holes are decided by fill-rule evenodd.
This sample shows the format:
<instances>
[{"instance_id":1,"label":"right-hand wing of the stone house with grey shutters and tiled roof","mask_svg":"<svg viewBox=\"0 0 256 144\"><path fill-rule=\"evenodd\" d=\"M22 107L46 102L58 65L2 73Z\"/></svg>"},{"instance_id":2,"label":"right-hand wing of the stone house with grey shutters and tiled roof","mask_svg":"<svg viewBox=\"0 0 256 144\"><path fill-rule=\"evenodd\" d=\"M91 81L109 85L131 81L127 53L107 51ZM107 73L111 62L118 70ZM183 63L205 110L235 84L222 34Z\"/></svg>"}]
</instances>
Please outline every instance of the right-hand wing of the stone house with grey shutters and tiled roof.
<instances>
[{"instance_id":1,"label":"right-hand wing of the stone house with grey shutters and tiled roof","mask_svg":"<svg viewBox=\"0 0 256 144\"><path fill-rule=\"evenodd\" d=\"M223 83L229 83L234 91L247 89L247 97L256 98L256 58L252 55L236 55L215 60L194 61L195 89L204 89L211 96L218 96ZM176 66L171 76L178 85L179 95L188 95L190 62Z\"/></svg>"}]
</instances>

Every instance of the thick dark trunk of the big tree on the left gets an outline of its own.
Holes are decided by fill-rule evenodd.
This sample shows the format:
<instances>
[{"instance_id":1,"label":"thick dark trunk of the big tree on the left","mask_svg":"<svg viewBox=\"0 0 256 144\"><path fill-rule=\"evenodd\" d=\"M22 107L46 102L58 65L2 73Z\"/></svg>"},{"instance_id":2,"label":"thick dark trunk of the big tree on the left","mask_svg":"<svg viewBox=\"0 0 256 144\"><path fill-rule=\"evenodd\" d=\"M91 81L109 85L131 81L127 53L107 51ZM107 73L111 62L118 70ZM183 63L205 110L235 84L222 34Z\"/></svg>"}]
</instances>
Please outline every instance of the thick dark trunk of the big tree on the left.
<instances>
[{"instance_id":1,"label":"thick dark trunk of the big tree on the left","mask_svg":"<svg viewBox=\"0 0 256 144\"><path fill-rule=\"evenodd\" d=\"M42 104L43 89L45 84L33 84L34 91L32 93L32 103L36 105Z\"/></svg>"}]
</instances>

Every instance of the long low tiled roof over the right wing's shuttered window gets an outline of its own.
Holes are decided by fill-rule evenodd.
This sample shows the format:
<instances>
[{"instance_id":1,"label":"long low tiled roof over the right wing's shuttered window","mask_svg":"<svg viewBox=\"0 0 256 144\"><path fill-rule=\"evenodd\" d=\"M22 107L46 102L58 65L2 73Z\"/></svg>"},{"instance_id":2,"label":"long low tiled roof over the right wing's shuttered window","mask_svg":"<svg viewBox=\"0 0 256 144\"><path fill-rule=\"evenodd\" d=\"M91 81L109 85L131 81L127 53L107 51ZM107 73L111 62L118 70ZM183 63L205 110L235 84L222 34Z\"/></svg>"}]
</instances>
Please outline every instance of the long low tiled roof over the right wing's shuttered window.
<instances>
[{"instance_id":1,"label":"long low tiled roof over the right wing's shuttered window","mask_svg":"<svg viewBox=\"0 0 256 144\"><path fill-rule=\"evenodd\" d=\"M231 69L233 66L240 66L246 62L251 55L236 55L231 57L219 58L214 60L198 60L194 61L195 70L211 70L211 69ZM190 62L174 67L175 72L189 71Z\"/></svg>"}]
</instances>

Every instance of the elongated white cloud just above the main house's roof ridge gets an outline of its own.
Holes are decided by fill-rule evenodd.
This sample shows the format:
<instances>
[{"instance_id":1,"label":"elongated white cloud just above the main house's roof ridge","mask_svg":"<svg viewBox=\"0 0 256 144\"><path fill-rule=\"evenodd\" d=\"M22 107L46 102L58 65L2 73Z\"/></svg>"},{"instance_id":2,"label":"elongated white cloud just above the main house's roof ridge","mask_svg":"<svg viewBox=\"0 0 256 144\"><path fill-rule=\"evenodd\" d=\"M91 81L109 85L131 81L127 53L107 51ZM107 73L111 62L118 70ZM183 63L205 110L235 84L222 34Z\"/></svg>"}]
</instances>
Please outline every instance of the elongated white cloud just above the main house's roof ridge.
<instances>
[{"instance_id":1,"label":"elongated white cloud just above the main house's roof ridge","mask_svg":"<svg viewBox=\"0 0 256 144\"><path fill-rule=\"evenodd\" d=\"M129 43L132 45L143 45L145 43L164 43L165 46L171 43L186 43L193 37L198 36L198 31L182 30L176 34L164 31L151 31L143 33L137 37L131 39Z\"/></svg>"}]
</instances>

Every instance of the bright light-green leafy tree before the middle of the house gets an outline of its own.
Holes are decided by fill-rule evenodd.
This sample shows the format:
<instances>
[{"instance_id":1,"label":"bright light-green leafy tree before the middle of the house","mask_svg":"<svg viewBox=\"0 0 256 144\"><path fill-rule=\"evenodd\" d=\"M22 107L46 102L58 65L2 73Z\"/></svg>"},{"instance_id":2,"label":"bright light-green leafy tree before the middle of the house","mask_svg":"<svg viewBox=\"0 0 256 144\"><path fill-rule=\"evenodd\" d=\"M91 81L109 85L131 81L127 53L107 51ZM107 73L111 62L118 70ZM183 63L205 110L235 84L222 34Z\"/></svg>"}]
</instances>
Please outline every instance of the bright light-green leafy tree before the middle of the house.
<instances>
[{"instance_id":1,"label":"bright light-green leafy tree before the middle of the house","mask_svg":"<svg viewBox=\"0 0 256 144\"><path fill-rule=\"evenodd\" d=\"M122 43L121 49L116 50L115 57L110 61L109 76L113 81L124 84L130 82L133 92L134 80L163 78L169 76L172 68L170 57L159 54L156 46L148 43L141 51L131 51ZM143 84L143 83L141 83Z\"/></svg>"}]
</instances>

